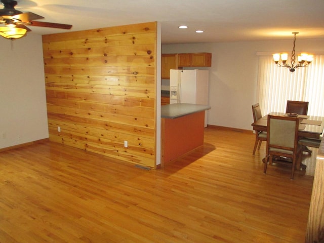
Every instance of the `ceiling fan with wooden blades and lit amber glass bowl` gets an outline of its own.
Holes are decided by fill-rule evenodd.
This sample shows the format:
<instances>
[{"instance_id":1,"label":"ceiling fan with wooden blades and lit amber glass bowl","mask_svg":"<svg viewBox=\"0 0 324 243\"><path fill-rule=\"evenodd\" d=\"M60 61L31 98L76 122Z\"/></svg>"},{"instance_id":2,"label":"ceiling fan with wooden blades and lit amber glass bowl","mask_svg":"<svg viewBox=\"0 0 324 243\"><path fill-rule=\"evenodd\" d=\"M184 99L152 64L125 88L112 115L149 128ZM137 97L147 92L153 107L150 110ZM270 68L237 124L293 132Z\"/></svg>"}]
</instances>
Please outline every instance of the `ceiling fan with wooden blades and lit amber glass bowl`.
<instances>
[{"instance_id":1,"label":"ceiling fan with wooden blades and lit amber glass bowl","mask_svg":"<svg viewBox=\"0 0 324 243\"><path fill-rule=\"evenodd\" d=\"M70 24L59 24L34 21L36 19L44 19L43 16L31 13L21 12L15 9L17 1L14 0L0 0L4 5L0 9L0 24L5 24L5 27L0 27L0 35L5 38L20 38L25 35L27 31L31 31L27 26L50 27L60 29L70 29Z\"/></svg>"}]
</instances>

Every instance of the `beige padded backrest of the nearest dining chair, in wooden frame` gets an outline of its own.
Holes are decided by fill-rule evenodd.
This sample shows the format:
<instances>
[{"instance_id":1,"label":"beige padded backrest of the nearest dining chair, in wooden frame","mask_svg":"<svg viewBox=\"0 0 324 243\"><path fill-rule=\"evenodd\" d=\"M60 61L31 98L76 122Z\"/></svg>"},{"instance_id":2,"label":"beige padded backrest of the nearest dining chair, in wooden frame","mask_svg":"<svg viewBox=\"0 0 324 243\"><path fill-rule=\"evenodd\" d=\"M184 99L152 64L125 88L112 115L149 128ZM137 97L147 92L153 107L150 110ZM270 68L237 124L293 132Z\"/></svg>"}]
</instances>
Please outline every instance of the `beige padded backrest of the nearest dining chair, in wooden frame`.
<instances>
[{"instance_id":1,"label":"beige padded backrest of the nearest dining chair, in wooden frame","mask_svg":"<svg viewBox=\"0 0 324 243\"><path fill-rule=\"evenodd\" d=\"M298 146L299 118L268 115L267 146L293 151Z\"/></svg>"}]
</instances>

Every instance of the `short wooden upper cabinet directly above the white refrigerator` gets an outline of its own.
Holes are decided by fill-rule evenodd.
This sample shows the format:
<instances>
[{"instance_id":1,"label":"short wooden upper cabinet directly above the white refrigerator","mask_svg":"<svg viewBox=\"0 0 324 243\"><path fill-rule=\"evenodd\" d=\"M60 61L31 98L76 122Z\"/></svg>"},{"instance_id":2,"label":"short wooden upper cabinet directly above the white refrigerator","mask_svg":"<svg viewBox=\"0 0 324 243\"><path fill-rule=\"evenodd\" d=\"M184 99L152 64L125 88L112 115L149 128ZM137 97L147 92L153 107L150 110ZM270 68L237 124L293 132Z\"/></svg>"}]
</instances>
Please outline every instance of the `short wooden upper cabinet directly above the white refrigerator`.
<instances>
[{"instance_id":1,"label":"short wooden upper cabinet directly above the white refrigerator","mask_svg":"<svg viewBox=\"0 0 324 243\"><path fill-rule=\"evenodd\" d=\"M210 67L211 53L179 53L178 67Z\"/></svg>"}]
</instances>

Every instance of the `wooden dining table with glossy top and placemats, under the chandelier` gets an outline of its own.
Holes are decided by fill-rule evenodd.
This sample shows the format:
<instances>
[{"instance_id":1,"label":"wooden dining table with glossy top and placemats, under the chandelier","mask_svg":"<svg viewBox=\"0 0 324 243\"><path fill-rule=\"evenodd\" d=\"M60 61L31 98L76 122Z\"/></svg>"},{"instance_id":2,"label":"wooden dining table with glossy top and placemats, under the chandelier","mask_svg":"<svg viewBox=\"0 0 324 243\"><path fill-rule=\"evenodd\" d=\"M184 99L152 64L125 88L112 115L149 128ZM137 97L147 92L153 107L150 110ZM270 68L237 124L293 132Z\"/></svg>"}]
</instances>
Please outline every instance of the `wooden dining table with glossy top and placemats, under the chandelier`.
<instances>
[{"instance_id":1,"label":"wooden dining table with glossy top and placemats, under the chandelier","mask_svg":"<svg viewBox=\"0 0 324 243\"><path fill-rule=\"evenodd\" d=\"M269 115L289 116L288 113L283 112L270 112ZM299 138L315 138L319 139L322 136L324 129L324 117L312 116L312 115L297 115L299 118L298 136ZM255 131L267 131L268 129L268 114L252 123L253 130ZM262 161L265 162L266 158ZM296 165L297 169L306 170L306 166Z\"/></svg>"}]
</instances>

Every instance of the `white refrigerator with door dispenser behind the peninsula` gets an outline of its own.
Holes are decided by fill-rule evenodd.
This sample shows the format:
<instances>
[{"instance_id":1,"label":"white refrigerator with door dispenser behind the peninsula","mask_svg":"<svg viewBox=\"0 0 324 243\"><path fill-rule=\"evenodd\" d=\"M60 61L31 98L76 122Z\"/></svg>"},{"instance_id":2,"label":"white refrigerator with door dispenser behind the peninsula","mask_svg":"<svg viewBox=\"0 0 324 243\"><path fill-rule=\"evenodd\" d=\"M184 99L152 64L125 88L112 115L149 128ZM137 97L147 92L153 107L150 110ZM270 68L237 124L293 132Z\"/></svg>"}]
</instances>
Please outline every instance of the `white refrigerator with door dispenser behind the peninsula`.
<instances>
[{"instance_id":1,"label":"white refrigerator with door dispenser behind the peninsula","mask_svg":"<svg viewBox=\"0 0 324 243\"><path fill-rule=\"evenodd\" d=\"M170 69L170 104L189 103L208 105L208 70ZM208 110L205 111L207 127Z\"/></svg>"}]
</instances>

